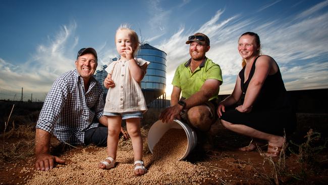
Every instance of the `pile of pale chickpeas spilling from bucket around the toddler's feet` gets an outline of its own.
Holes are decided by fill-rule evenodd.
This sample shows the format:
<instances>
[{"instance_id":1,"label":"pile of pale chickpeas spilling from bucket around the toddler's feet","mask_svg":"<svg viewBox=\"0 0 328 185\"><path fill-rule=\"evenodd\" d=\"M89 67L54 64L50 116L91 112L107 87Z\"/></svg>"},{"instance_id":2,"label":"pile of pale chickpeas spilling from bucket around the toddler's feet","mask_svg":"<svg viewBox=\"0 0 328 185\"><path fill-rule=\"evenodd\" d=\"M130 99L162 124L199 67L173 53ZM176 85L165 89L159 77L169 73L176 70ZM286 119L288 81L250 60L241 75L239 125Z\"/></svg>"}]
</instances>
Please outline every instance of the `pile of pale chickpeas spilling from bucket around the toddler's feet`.
<instances>
[{"instance_id":1,"label":"pile of pale chickpeas spilling from bucket around the toddler's feet","mask_svg":"<svg viewBox=\"0 0 328 185\"><path fill-rule=\"evenodd\" d=\"M183 129L170 129L155 145L153 154L145 154L143 161L148 172L134 175L133 151L118 149L116 167L98 168L106 157L105 148L83 149L81 153L62 156L66 165L49 171L35 171L27 184L200 184L215 174L201 164L178 161L186 152L187 136Z\"/></svg>"}]
</instances>

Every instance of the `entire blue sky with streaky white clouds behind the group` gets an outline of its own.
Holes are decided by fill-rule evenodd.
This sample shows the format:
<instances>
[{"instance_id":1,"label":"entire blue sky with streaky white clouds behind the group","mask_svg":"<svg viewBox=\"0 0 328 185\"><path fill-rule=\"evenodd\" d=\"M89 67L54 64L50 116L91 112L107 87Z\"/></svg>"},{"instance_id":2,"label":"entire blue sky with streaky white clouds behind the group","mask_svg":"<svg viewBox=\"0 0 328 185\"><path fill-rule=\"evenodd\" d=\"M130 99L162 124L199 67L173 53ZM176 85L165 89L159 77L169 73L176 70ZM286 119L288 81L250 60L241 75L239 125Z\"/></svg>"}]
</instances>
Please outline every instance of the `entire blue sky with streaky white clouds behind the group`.
<instances>
[{"instance_id":1,"label":"entire blue sky with streaky white clouds behind the group","mask_svg":"<svg viewBox=\"0 0 328 185\"><path fill-rule=\"evenodd\" d=\"M99 64L117 56L114 36L130 24L166 52L167 93L176 67L189 59L189 35L210 38L206 56L221 66L229 94L241 69L238 37L253 31L262 54L279 64L287 90L328 87L328 1L15 1L1 0L0 88L44 100L54 79L74 69L80 48Z\"/></svg>"}]
</instances>

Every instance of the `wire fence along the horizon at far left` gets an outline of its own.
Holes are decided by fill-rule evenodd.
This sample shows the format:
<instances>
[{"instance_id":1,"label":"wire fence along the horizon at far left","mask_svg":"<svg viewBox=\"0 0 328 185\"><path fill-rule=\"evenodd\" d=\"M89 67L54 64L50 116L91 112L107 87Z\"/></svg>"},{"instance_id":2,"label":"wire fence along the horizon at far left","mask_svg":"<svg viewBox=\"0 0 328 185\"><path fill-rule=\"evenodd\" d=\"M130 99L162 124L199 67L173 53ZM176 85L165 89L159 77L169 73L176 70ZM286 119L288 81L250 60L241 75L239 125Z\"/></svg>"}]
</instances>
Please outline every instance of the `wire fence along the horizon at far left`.
<instances>
[{"instance_id":1,"label":"wire fence along the horizon at far left","mask_svg":"<svg viewBox=\"0 0 328 185\"><path fill-rule=\"evenodd\" d=\"M22 101L22 102L40 102L34 98L33 94L22 93L22 91L12 91L0 87L0 100L5 101Z\"/></svg>"}]
</instances>

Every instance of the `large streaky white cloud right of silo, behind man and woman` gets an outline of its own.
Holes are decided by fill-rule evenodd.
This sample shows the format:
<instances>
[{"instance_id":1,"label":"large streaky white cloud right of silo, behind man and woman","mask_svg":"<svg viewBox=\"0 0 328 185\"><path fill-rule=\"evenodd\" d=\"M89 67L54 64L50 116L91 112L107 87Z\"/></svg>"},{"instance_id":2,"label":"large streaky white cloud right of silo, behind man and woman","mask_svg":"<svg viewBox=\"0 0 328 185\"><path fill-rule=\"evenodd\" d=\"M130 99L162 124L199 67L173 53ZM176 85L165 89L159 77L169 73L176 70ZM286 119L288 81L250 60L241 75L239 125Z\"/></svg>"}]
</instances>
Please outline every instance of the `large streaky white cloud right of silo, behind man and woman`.
<instances>
[{"instance_id":1,"label":"large streaky white cloud right of silo, behind man and woman","mask_svg":"<svg viewBox=\"0 0 328 185\"><path fill-rule=\"evenodd\" d=\"M275 2L278 3L279 1ZM273 5L273 4L270 4ZM283 78L287 89L328 87L328 69L323 68L326 63L315 65L297 64L295 61L304 60L312 63L319 56L327 58L326 43L328 43L328 13L319 12L320 3L296 16L297 21L290 21L293 17L280 18L263 23L255 17L242 19L239 15L221 20L224 10L216 14L197 30L210 38L211 48L206 56L221 66L224 84L221 93L231 93L236 75L241 70L241 58L237 52L237 40L246 31L254 31L260 35L262 53L275 58L283 69ZM306 17L305 15L315 16ZM165 51L167 57L167 86L172 89L172 78L179 64L190 58L188 45L185 41L192 34L181 27L169 39L163 40L157 48ZM318 70L320 72L315 72ZM298 69L294 71L294 69ZM303 78L300 78L303 76ZM168 94L171 91L167 91Z\"/></svg>"}]
</instances>

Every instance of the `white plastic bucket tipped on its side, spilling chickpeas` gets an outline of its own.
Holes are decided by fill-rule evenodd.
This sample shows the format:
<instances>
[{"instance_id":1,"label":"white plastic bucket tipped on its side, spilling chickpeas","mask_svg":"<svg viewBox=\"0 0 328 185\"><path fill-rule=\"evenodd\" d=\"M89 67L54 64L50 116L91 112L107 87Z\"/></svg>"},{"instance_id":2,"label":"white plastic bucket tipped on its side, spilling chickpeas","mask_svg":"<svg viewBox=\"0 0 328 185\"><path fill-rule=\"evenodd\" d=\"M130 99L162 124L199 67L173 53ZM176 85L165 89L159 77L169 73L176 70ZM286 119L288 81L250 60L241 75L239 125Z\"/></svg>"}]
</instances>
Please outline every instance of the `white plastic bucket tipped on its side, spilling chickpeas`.
<instances>
[{"instance_id":1,"label":"white plastic bucket tipped on its side, spilling chickpeas","mask_svg":"<svg viewBox=\"0 0 328 185\"><path fill-rule=\"evenodd\" d=\"M185 159L190 152L195 148L197 145L197 135L187 124L183 123L180 120L173 120L169 123L163 123L161 120L156 121L149 129L147 141L148 141L148 148L151 153L153 153L154 146L159 142L160 138L170 129L170 128L177 128L177 129L184 129L187 135L188 146L185 154L179 160Z\"/></svg>"}]
</instances>

